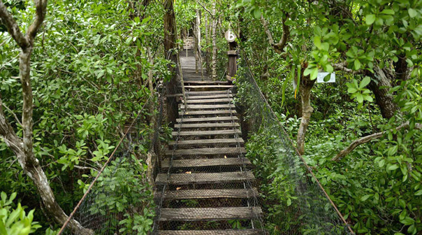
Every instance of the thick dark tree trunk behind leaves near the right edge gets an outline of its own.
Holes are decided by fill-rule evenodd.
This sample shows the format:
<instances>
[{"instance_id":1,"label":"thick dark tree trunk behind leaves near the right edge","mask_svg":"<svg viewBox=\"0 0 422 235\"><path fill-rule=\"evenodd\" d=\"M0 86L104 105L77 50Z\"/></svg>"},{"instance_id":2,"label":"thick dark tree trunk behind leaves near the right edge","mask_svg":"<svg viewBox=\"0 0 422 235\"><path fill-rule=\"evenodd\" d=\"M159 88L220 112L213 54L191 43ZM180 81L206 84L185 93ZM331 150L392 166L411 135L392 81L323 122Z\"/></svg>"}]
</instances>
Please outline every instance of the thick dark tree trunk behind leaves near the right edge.
<instances>
[{"instance_id":1,"label":"thick dark tree trunk behind leaves near the right edge","mask_svg":"<svg viewBox=\"0 0 422 235\"><path fill-rule=\"evenodd\" d=\"M374 72L375 73L368 74L371 77L368 88L374 92L375 101L381 110L382 117L390 119L394 116L394 113L398 111L398 106L394 102L394 97L389 93L394 75L392 75L392 72L384 71L378 66L374 66Z\"/></svg>"}]
</instances>

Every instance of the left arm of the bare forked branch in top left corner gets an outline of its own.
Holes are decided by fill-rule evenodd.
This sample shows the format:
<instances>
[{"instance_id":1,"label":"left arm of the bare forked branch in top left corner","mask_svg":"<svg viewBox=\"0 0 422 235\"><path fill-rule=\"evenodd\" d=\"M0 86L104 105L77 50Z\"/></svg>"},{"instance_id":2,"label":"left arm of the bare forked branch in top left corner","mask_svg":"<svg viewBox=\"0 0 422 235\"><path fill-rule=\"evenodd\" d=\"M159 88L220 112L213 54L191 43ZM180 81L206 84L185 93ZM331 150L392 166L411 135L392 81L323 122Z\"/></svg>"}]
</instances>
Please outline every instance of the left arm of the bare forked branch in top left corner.
<instances>
[{"instance_id":1,"label":"left arm of the bare forked branch in top left corner","mask_svg":"<svg viewBox=\"0 0 422 235\"><path fill-rule=\"evenodd\" d=\"M22 49L30 46L28 39L22 34L18 24L16 23L15 19L13 19L12 15L8 12L2 0L0 0L0 18L6 25L8 32L12 35L13 39L15 39L16 43Z\"/></svg>"}]
</instances>

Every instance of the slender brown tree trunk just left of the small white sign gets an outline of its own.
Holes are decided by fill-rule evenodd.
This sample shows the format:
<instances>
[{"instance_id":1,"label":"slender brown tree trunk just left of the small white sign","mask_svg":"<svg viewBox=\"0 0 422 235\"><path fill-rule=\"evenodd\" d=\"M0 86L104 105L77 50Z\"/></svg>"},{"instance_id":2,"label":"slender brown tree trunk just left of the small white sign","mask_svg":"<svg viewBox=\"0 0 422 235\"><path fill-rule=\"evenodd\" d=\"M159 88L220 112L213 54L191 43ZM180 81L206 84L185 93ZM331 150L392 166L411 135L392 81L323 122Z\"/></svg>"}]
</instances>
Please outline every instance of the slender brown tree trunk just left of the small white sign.
<instances>
[{"instance_id":1,"label":"slender brown tree trunk just left of the small white sign","mask_svg":"<svg viewBox=\"0 0 422 235\"><path fill-rule=\"evenodd\" d=\"M303 74L303 73L302 73ZM310 106L310 90L315 80L310 80L309 76L301 77L299 84L300 98L302 99L302 120L300 121L299 130L297 131L297 149L300 154L305 153L305 135L309 125L310 115L313 112Z\"/></svg>"}]
</instances>

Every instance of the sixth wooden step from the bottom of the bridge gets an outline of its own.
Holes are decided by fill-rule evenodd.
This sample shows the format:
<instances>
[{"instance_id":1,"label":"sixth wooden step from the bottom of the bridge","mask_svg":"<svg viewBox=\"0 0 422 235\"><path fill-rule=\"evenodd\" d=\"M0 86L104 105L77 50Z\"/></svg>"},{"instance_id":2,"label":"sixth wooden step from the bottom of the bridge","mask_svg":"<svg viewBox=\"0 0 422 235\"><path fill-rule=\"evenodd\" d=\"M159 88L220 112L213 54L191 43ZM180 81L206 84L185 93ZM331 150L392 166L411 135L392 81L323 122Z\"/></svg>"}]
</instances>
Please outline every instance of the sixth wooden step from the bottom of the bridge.
<instances>
[{"instance_id":1,"label":"sixth wooden step from the bottom of the bridge","mask_svg":"<svg viewBox=\"0 0 422 235\"><path fill-rule=\"evenodd\" d=\"M228 148L202 148L202 149L176 149L176 150L166 150L166 156L189 156L189 155L228 155L228 154L240 154L246 153L245 148L237 147L228 147Z\"/></svg>"}]
</instances>

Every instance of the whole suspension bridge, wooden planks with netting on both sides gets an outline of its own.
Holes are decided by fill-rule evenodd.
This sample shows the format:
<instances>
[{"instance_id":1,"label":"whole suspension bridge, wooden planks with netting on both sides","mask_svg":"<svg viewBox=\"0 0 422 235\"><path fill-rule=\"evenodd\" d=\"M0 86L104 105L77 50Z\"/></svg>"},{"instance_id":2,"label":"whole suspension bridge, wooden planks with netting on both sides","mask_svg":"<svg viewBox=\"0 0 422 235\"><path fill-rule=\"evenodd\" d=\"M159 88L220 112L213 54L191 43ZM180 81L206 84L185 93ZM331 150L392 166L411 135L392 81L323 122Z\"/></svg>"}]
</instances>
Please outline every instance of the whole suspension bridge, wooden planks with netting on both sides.
<instances>
[{"instance_id":1,"label":"whole suspension bridge, wooden planks with netting on both sides","mask_svg":"<svg viewBox=\"0 0 422 235\"><path fill-rule=\"evenodd\" d=\"M137 123L146 121L138 115L122 150L109 159L114 167L101 172L72 216L90 234L145 234L136 218L145 217L147 207L154 215L143 230L154 235L354 234L278 122L247 58L239 60L235 83L195 71L191 50L179 58L183 75L172 95L178 118L168 143L159 141L166 88L149 101L158 105L154 155L145 156L154 162L154 205L143 194L110 190L119 187L119 174L133 177L128 172L136 164L130 155L139 144ZM123 197L128 206L116 209Z\"/></svg>"}]
</instances>

